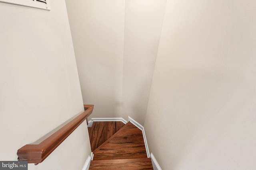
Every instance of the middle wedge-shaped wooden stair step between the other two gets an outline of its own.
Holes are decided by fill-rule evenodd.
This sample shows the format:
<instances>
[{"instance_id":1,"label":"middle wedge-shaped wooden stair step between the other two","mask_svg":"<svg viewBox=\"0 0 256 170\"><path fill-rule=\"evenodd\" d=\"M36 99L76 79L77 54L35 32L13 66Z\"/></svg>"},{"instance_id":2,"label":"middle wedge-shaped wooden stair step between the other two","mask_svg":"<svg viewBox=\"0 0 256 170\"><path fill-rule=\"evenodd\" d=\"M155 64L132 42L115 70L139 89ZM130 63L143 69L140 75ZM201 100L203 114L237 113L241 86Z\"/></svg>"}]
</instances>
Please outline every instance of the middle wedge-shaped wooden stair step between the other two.
<instances>
[{"instance_id":1,"label":"middle wedge-shaped wooden stair step between the other two","mask_svg":"<svg viewBox=\"0 0 256 170\"><path fill-rule=\"evenodd\" d=\"M93 153L94 160L147 158L142 131L130 122Z\"/></svg>"}]
</instances>

